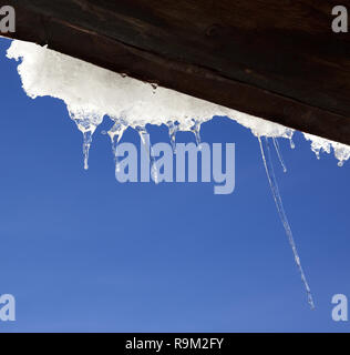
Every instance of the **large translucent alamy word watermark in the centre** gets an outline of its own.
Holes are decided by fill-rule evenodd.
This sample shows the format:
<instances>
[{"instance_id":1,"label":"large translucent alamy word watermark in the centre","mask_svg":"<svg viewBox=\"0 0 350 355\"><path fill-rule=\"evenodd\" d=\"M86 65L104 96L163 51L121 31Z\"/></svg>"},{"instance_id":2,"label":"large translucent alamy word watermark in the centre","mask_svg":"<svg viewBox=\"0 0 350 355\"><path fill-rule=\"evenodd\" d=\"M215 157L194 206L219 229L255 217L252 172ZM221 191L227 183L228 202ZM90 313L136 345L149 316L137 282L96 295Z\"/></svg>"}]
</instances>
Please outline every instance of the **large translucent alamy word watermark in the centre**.
<instances>
[{"instance_id":1,"label":"large translucent alamy word watermark in the centre","mask_svg":"<svg viewBox=\"0 0 350 355\"><path fill-rule=\"evenodd\" d=\"M144 134L140 156L136 145L121 143L115 151L115 178L119 182L200 182L214 181L215 194L230 194L235 190L235 143L225 145L225 172L223 144L168 143L151 146L150 135ZM200 158L200 165L198 160ZM175 162L174 162L175 159ZM140 166L140 171L138 171ZM174 169L175 168L175 169ZM175 171L174 171L175 170ZM186 174L187 172L187 174ZM187 175L187 176L186 176Z\"/></svg>"}]
</instances>

